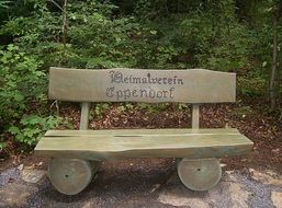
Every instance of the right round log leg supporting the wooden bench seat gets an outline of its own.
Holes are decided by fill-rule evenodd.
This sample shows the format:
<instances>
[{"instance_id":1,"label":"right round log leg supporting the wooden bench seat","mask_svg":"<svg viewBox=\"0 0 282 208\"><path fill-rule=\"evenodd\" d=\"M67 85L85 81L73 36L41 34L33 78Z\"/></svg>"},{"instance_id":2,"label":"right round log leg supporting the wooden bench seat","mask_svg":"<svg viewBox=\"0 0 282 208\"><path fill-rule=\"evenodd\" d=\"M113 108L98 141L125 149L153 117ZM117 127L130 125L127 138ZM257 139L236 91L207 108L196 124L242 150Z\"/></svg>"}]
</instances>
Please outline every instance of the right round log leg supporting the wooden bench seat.
<instances>
[{"instance_id":1,"label":"right round log leg supporting the wooden bench seat","mask_svg":"<svg viewBox=\"0 0 282 208\"><path fill-rule=\"evenodd\" d=\"M221 180L222 167L218 159L178 159L178 175L192 190L208 190Z\"/></svg>"}]
</instances>

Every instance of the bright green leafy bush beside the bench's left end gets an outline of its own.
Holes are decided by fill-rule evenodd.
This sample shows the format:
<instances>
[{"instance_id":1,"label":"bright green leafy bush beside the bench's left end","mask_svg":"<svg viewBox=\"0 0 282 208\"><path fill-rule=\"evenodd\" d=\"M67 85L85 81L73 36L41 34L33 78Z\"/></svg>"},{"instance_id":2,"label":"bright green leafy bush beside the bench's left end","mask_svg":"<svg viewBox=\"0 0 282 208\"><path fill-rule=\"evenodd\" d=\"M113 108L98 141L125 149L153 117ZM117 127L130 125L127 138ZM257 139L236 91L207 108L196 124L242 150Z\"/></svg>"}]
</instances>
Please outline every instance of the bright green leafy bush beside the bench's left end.
<instances>
[{"instance_id":1,"label":"bright green leafy bush beside the bench's left end","mask_svg":"<svg viewBox=\"0 0 282 208\"><path fill-rule=\"evenodd\" d=\"M34 145L44 130L58 124L48 116L26 115L44 113L46 104L46 73L42 61L9 45L0 50L0 124L4 131L15 135L20 142Z\"/></svg>"}]
</instances>

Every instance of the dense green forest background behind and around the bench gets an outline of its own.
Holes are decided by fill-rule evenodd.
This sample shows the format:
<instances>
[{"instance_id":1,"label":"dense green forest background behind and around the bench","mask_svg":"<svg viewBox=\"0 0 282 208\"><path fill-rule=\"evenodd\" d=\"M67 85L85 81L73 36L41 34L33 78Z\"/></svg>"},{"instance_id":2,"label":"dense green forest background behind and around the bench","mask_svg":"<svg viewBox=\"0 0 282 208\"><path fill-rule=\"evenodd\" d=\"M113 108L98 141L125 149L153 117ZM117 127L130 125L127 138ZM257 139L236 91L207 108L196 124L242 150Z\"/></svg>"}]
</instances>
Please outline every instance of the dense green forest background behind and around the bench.
<instances>
[{"instance_id":1,"label":"dense green forest background behind and around the bench","mask_svg":"<svg viewBox=\"0 0 282 208\"><path fill-rule=\"evenodd\" d=\"M1 157L29 152L49 128L75 128L47 99L50 66L236 72L239 111L281 124L281 13L279 0L0 0ZM91 116L111 105L94 104Z\"/></svg>"}]
</instances>

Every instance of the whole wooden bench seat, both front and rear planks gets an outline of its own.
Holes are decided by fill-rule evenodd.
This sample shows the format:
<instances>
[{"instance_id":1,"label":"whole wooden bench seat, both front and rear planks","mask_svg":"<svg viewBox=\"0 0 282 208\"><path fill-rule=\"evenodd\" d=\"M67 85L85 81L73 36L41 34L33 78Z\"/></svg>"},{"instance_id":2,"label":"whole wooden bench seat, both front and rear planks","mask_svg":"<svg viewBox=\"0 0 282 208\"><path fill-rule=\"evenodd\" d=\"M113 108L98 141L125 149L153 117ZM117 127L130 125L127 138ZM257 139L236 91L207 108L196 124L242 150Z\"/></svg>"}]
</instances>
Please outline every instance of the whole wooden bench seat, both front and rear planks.
<instances>
[{"instance_id":1,"label":"whole wooden bench seat, both front and rear planks","mask_svg":"<svg viewBox=\"0 0 282 208\"><path fill-rule=\"evenodd\" d=\"M253 142L234 128L49 130L35 148L48 158L219 158L249 153Z\"/></svg>"}]
</instances>

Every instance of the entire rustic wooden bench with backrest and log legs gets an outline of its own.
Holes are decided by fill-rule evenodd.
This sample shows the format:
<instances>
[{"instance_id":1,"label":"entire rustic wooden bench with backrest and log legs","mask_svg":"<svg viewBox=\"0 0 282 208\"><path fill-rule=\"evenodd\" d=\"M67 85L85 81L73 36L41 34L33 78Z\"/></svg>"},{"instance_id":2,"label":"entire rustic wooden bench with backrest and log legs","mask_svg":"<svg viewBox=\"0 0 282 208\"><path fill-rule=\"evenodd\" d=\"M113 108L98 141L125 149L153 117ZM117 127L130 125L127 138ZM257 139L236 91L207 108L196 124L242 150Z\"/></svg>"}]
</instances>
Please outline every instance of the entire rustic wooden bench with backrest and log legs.
<instances>
[{"instance_id":1,"label":"entire rustic wooden bench with backrest and log legs","mask_svg":"<svg viewBox=\"0 0 282 208\"><path fill-rule=\"evenodd\" d=\"M81 102L80 130L49 130L35 147L52 158L57 190L81 192L102 160L176 158L182 183L207 190L222 175L218 158L249 153L252 141L234 128L200 129L199 104L235 102L236 74L190 70L50 68L49 99ZM192 128L88 130L90 102L181 102L193 104Z\"/></svg>"}]
</instances>

